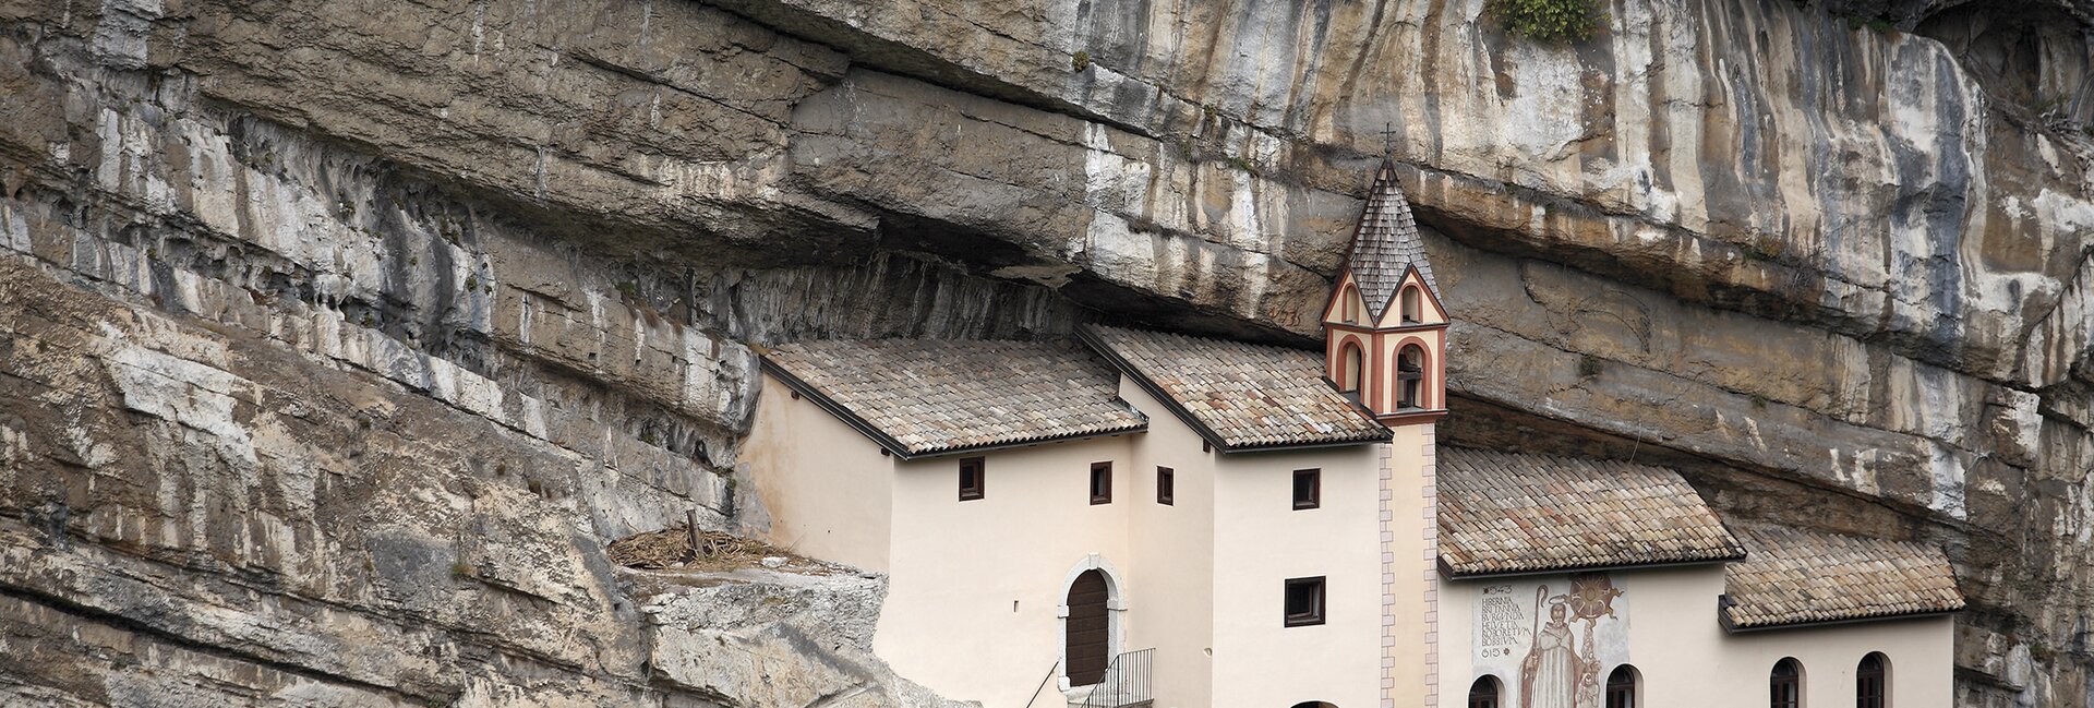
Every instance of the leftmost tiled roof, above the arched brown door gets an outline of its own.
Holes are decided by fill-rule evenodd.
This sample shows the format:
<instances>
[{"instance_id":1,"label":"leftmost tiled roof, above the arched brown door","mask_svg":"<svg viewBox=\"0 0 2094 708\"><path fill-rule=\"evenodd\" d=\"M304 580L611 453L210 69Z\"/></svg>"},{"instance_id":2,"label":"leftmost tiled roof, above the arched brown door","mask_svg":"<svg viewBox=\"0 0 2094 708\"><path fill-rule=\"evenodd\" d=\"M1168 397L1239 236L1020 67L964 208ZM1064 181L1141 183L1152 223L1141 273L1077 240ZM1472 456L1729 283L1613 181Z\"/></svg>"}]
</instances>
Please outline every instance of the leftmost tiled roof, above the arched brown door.
<instances>
[{"instance_id":1,"label":"leftmost tiled roof, above the arched brown door","mask_svg":"<svg viewBox=\"0 0 2094 708\"><path fill-rule=\"evenodd\" d=\"M798 341L764 364L903 457L1148 427L1074 341Z\"/></svg>"}]
</instances>

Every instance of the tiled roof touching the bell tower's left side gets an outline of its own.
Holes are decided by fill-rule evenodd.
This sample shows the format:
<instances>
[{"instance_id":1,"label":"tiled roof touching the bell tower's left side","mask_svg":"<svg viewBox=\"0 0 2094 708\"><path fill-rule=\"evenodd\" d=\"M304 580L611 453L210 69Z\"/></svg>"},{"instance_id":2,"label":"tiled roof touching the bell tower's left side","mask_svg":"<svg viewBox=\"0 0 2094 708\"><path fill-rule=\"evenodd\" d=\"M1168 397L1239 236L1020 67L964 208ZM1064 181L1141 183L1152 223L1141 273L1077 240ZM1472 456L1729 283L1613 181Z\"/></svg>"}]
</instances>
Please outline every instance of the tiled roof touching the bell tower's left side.
<instances>
[{"instance_id":1,"label":"tiled roof touching the bell tower's left side","mask_svg":"<svg viewBox=\"0 0 2094 708\"><path fill-rule=\"evenodd\" d=\"M1085 337L1223 450L1388 440L1323 383L1315 352L1112 327Z\"/></svg>"}]
</instances>

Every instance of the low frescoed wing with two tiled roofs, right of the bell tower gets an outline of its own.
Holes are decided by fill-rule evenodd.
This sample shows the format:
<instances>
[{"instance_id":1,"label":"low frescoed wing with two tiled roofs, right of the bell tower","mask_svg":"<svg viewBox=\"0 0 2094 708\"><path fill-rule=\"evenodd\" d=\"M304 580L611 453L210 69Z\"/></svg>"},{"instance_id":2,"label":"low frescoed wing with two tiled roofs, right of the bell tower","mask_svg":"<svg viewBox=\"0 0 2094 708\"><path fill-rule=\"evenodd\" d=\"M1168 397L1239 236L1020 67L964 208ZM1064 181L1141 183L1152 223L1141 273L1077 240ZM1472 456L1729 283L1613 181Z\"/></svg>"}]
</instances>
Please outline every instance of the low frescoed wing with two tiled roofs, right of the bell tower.
<instances>
[{"instance_id":1,"label":"low frescoed wing with two tiled roofs, right of the bell tower","mask_svg":"<svg viewBox=\"0 0 2094 708\"><path fill-rule=\"evenodd\" d=\"M1725 519L1629 461L1445 446L1434 480L1439 706L1950 706L1941 549Z\"/></svg>"}]
</instances>

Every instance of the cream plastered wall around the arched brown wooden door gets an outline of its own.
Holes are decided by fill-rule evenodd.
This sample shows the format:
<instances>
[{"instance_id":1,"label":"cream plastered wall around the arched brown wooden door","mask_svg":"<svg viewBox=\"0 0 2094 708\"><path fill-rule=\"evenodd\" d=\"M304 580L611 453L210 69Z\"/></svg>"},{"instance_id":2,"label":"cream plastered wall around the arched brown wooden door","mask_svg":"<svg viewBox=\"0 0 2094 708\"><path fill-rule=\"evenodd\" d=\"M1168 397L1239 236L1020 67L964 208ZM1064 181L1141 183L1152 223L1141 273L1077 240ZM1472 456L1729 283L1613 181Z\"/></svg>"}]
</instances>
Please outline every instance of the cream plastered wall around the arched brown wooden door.
<instances>
[{"instance_id":1,"label":"cream plastered wall around the arched brown wooden door","mask_svg":"<svg viewBox=\"0 0 2094 708\"><path fill-rule=\"evenodd\" d=\"M974 455L963 455L974 457ZM873 651L896 672L953 700L1024 706L1045 679L1053 704L1062 658L1062 605L1083 568L1101 568L1116 591L1122 645L1145 605L1129 576L1127 515L1133 488L1129 436L988 450L984 499L959 501L959 459L894 465L894 536L888 599ZM1114 463L1110 505L1091 505L1091 463ZM1150 499L1154 503L1154 499ZM1049 677L1049 670L1053 674Z\"/></svg>"}]
</instances>

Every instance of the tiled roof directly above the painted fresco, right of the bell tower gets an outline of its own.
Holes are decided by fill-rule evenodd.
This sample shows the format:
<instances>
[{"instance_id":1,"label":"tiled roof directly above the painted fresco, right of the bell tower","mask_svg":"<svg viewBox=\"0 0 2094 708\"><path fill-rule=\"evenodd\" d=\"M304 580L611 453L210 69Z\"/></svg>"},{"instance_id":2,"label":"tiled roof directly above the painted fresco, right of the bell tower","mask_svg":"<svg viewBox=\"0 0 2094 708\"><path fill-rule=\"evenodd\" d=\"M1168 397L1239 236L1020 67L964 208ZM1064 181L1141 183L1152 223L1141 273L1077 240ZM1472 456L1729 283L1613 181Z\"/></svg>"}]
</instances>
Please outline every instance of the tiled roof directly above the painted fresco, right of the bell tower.
<instances>
[{"instance_id":1,"label":"tiled roof directly above the painted fresco, right of the bell tower","mask_svg":"<svg viewBox=\"0 0 2094 708\"><path fill-rule=\"evenodd\" d=\"M1439 553L1455 576L1744 555L1700 494L1663 467L1443 446L1436 484Z\"/></svg>"}]
</instances>

